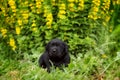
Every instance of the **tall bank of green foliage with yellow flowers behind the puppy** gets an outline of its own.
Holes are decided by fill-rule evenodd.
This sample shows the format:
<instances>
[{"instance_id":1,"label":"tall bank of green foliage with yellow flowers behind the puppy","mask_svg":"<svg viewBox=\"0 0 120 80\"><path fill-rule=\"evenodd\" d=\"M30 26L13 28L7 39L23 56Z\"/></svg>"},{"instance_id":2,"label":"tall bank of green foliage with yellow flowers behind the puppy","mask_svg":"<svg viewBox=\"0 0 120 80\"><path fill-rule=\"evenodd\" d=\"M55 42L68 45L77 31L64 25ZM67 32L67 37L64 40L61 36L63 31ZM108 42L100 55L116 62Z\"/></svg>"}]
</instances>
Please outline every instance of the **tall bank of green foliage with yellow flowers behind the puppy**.
<instances>
[{"instance_id":1,"label":"tall bank of green foliage with yellow flowers behind the puppy","mask_svg":"<svg viewBox=\"0 0 120 80\"><path fill-rule=\"evenodd\" d=\"M109 35L109 29L114 28L116 16L119 14L119 5L112 4L112 2L109 4L110 11L105 9L107 13L104 15L100 13L102 12L102 5L100 5L99 11L96 13L99 18L94 18L94 20L89 18L90 13L92 13L90 9L93 7L93 2L88 0L85 0L84 4L82 4L84 5L83 10L78 9L79 4L77 2L74 2L74 8L71 7L70 9L69 6L72 2L64 0L55 1L55 3L51 0L45 0L44 2L29 0L22 3L19 0L12 1L1 1L3 4L1 4L0 12L0 18L2 19L0 22L0 38L2 38L0 41L2 43L0 45L5 45L0 50L1 53L8 55L14 53L31 54L33 50L41 53L47 42L53 38L59 38L67 42L71 54L86 53L90 49L98 47L97 44L106 44L109 38L109 36L106 37ZM101 4L103 3L101 1ZM105 4L107 5L107 3ZM64 11L60 9L60 5L65 5L62 6L65 9ZM38 6L41 6L40 9L38 9ZM114 10L114 12L111 13L111 10ZM61 14L65 12L62 15L66 16L66 18L59 18L59 12ZM50 18L47 18L48 16ZM91 14L91 16L93 15ZM102 16L111 18L111 21L109 19L106 21ZM113 25L112 27L108 26L109 21L110 25ZM117 21L119 23L119 19ZM48 22L51 23L51 26L47 25ZM16 30L17 27L19 27L18 31ZM4 28L7 30L6 32L3 30ZM4 36L6 37L4 38ZM14 39L12 45L9 44L11 38ZM109 41L107 44L111 44ZM12 47L16 47L15 51L7 53L13 49Z\"/></svg>"}]
</instances>

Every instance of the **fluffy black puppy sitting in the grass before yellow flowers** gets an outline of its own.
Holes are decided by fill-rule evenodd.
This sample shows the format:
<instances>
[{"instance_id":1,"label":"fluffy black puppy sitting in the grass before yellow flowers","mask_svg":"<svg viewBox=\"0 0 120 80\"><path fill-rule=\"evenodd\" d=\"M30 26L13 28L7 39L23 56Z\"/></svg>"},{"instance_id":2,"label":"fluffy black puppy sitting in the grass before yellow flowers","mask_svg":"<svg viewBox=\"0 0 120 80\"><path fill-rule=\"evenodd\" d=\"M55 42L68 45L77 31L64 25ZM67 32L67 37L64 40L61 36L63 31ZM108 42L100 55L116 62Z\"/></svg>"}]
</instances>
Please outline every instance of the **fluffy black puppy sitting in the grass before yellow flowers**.
<instances>
[{"instance_id":1,"label":"fluffy black puppy sitting in the grass before yellow flowers","mask_svg":"<svg viewBox=\"0 0 120 80\"><path fill-rule=\"evenodd\" d=\"M51 40L47 44L45 52L39 58L39 66L47 68L48 72L50 72L52 65L61 68L62 66L67 67L69 63L68 46L59 39Z\"/></svg>"}]
</instances>

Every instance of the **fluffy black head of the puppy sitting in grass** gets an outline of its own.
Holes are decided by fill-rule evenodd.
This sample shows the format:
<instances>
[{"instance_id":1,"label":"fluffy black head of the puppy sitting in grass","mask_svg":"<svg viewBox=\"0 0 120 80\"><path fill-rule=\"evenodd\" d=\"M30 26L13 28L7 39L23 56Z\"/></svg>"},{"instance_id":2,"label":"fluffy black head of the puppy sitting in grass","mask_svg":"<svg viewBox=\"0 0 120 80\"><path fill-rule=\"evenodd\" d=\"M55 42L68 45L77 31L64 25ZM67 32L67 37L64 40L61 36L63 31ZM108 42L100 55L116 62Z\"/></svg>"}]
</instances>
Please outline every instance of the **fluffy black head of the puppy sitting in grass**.
<instances>
[{"instance_id":1,"label":"fluffy black head of the puppy sitting in grass","mask_svg":"<svg viewBox=\"0 0 120 80\"><path fill-rule=\"evenodd\" d=\"M59 39L53 39L47 44L46 51L49 56L60 58L68 53L68 46Z\"/></svg>"}]
</instances>

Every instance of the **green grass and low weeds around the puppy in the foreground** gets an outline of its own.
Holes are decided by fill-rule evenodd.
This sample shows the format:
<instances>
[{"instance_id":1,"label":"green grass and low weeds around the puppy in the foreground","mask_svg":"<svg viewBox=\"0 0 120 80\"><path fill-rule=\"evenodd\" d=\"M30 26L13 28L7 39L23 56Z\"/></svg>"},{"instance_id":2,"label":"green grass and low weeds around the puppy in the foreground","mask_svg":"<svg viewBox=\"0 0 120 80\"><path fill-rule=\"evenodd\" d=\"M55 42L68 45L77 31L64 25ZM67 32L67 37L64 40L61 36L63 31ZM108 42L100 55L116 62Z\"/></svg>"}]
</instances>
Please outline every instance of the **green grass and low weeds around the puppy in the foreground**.
<instances>
[{"instance_id":1,"label":"green grass and low weeds around the puppy in the foreground","mask_svg":"<svg viewBox=\"0 0 120 80\"><path fill-rule=\"evenodd\" d=\"M30 56L14 60L1 55L0 80L119 80L120 56L95 55L94 52L71 55L71 63L64 71L52 68L51 73L38 67L39 54L33 62ZM32 55L33 56L33 55Z\"/></svg>"}]
</instances>

